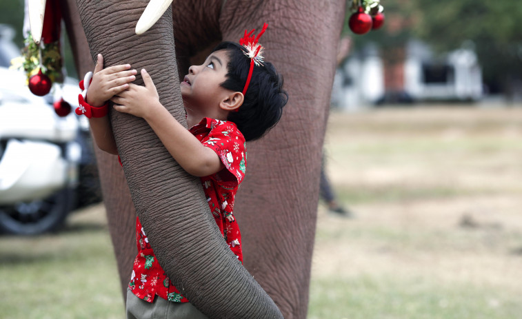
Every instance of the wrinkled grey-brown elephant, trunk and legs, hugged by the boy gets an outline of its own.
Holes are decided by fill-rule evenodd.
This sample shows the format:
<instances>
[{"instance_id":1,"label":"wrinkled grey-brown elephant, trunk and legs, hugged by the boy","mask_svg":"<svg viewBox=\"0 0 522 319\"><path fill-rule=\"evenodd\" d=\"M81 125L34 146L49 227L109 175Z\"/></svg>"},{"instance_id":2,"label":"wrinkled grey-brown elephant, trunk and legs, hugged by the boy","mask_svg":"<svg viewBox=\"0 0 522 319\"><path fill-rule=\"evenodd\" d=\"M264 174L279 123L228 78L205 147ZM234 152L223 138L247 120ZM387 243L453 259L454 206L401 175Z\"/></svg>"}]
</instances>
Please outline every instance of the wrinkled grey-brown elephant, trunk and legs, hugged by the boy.
<instances>
[{"instance_id":1,"label":"wrinkled grey-brown elephant, trunk and legs, hugged by the boy","mask_svg":"<svg viewBox=\"0 0 522 319\"><path fill-rule=\"evenodd\" d=\"M77 2L78 9L74 1L61 0L69 12L64 16L79 73L92 70L98 52L106 66L146 68L161 103L181 123L177 70L185 74L221 39L237 41L246 28L269 24L263 35L266 59L285 77L290 100L279 125L247 145L248 172L234 214L246 269L284 318L305 318L323 136L345 1L174 0L172 15L164 14L139 37L134 26L146 1ZM126 178L117 158L101 152L97 158L122 288L136 254L132 194L165 272L209 318L282 318L221 239L197 178L174 163L144 121L110 116Z\"/></svg>"}]
</instances>

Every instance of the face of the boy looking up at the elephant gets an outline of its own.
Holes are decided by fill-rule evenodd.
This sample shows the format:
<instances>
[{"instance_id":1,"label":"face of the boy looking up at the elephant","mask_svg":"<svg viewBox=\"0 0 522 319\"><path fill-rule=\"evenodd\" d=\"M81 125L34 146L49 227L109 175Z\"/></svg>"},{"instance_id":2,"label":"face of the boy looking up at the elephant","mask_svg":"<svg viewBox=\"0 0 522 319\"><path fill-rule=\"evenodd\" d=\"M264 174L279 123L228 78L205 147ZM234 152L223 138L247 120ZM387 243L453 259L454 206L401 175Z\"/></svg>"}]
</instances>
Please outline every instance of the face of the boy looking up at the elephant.
<instances>
[{"instance_id":1,"label":"face of the boy looking up at the elephant","mask_svg":"<svg viewBox=\"0 0 522 319\"><path fill-rule=\"evenodd\" d=\"M230 90L221 87L226 79L228 54L225 50L212 52L201 65L192 65L181 82L181 96L188 112L212 117L223 97Z\"/></svg>"}]
</instances>

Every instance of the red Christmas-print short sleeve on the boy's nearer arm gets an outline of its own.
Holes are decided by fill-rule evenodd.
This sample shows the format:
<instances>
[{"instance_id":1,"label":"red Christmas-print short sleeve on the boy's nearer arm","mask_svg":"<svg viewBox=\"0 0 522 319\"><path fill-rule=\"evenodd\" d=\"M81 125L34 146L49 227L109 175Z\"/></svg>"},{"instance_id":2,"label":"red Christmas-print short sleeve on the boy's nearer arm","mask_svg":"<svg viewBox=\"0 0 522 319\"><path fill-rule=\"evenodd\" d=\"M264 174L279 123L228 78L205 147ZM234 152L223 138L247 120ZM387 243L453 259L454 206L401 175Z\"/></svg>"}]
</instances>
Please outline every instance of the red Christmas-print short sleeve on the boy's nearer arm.
<instances>
[{"instance_id":1,"label":"red Christmas-print short sleeve on the boy's nearer arm","mask_svg":"<svg viewBox=\"0 0 522 319\"><path fill-rule=\"evenodd\" d=\"M223 186L237 187L245 176L246 150L245 138L236 125L220 121L201 143L216 152L225 165L225 169L212 178L223 183Z\"/></svg>"}]
</instances>

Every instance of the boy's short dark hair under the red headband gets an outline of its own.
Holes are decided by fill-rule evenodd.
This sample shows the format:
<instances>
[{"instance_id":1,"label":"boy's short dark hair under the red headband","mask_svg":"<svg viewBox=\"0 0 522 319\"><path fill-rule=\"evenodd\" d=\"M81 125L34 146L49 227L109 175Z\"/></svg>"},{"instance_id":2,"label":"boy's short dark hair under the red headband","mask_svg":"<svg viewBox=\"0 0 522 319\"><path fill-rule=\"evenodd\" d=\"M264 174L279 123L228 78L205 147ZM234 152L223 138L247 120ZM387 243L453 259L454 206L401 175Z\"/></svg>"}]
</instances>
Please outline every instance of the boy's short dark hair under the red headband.
<instances>
[{"instance_id":1,"label":"boy's short dark hair under the red headband","mask_svg":"<svg viewBox=\"0 0 522 319\"><path fill-rule=\"evenodd\" d=\"M243 47L234 42L221 42L212 52L227 50L228 73L221 83L225 89L243 92L250 70L250 58ZM230 112L227 121L234 122L246 141L263 136L281 119L288 94L283 90L283 76L277 73L272 63L254 65L252 79L245 92L243 105L238 112Z\"/></svg>"}]
</instances>

